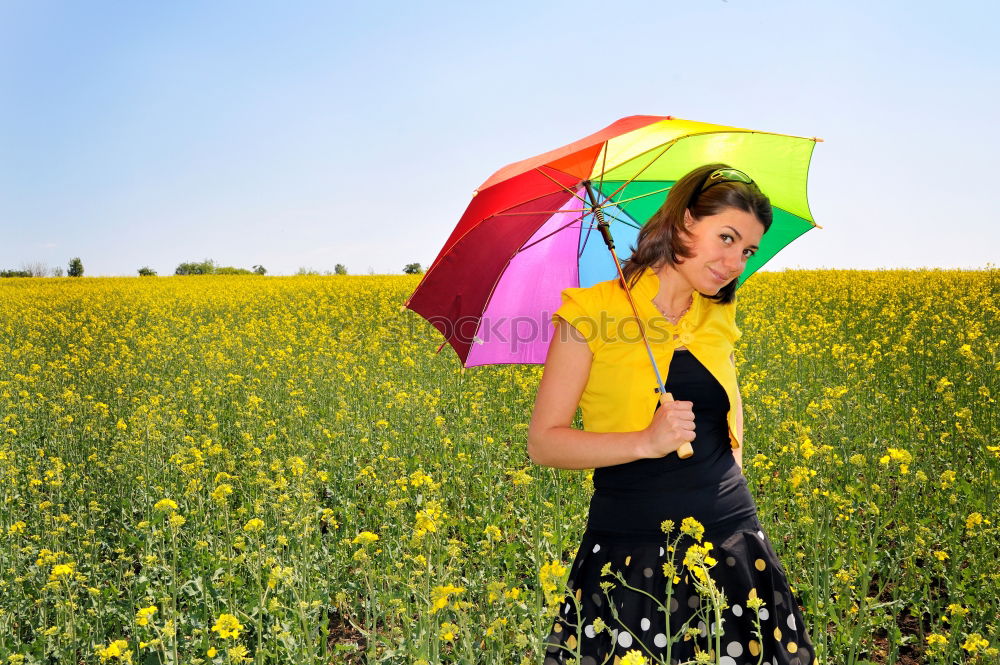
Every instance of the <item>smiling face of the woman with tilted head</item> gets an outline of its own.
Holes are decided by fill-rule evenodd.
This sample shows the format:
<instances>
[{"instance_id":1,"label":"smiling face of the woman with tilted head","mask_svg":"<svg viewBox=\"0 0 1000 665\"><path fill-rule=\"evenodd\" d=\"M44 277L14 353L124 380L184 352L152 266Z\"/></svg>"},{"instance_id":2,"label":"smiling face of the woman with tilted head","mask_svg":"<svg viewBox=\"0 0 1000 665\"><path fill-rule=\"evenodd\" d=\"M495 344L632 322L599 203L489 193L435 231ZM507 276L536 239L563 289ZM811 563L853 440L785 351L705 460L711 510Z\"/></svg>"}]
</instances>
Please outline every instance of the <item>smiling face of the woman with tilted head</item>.
<instances>
[{"instance_id":1,"label":"smiling face of the woman with tilted head","mask_svg":"<svg viewBox=\"0 0 1000 665\"><path fill-rule=\"evenodd\" d=\"M691 231L686 242L692 256L682 258L683 263L674 265L674 269L696 291L710 296L743 273L764 235L764 225L757 217L738 208L698 220L687 211L684 223Z\"/></svg>"}]
</instances>

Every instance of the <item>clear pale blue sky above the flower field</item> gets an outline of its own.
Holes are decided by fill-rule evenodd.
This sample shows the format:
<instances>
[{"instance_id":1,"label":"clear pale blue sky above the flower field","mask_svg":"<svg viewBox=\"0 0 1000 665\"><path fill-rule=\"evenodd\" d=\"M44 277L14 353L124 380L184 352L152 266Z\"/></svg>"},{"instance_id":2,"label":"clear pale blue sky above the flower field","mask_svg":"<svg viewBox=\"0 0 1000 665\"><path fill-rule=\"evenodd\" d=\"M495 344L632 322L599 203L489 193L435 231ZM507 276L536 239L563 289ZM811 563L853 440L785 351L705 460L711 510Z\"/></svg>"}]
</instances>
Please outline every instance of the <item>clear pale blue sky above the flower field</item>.
<instances>
[{"instance_id":1,"label":"clear pale blue sky above the flower field","mask_svg":"<svg viewBox=\"0 0 1000 665\"><path fill-rule=\"evenodd\" d=\"M984 267L998 21L962 1L0 0L0 268L398 273L497 168L635 114L825 139L824 228L767 269Z\"/></svg>"}]
</instances>

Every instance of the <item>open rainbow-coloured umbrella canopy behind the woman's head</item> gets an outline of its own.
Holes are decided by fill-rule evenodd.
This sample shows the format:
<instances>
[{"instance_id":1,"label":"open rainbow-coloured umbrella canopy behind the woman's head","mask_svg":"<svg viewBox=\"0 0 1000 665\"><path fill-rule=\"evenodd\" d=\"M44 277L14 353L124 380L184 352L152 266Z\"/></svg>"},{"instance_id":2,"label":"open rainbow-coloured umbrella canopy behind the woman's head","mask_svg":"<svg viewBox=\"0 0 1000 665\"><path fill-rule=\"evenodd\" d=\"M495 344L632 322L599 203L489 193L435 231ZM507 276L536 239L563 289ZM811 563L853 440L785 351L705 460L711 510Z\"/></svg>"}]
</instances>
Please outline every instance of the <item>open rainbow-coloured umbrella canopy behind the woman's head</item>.
<instances>
[{"instance_id":1,"label":"open rainbow-coloured umbrella canopy behind the woman's head","mask_svg":"<svg viewBox=\"0 0 1000 665\"><path fill-rule=\"evenodd\" d=\"M622 118L490 176L406 306L441 331L465 367L544 363L560 292L618 275L600 219L627 258L674 182L712 162L747 173L774 208L742 284L817 226L806 182L818 140L672 116Z\"/></svg>"}]
</instances>

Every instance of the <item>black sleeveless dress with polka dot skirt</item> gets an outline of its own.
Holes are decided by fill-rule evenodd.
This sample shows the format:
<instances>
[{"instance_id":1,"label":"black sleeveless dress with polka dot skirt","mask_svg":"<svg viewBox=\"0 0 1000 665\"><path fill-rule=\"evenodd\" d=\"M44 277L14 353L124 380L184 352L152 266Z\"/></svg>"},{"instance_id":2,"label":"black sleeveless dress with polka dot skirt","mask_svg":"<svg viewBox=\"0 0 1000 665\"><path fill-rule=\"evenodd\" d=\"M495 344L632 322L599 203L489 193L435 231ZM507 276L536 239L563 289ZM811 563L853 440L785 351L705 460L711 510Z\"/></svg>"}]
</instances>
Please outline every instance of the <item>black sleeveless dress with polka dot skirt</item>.
<instances>
[{"instance_id":1,"label":"black sleeveless dress with polka dot skirt","mask_svg":"<svg viewBox=\"0 0 1000 665\"><path fill-rule=\"evenodd\" d=\"M666 388L674 399L694 403L694 455L594 470L587 529L570 567L568 594L543 645L545 665L562 665L577 656L580 665L613 664L630 651L639 651L650 663L673 665L693 660L696 649L710 652L710 662L720 665L814 665L815 651L797 600L732 454L725 390L687 350L675 351ZM656 405L652 394L650 408ZM718 655L719 626L682 563L696 541L680 536L673 553L667 545L678 537L685 517L704 526L701 545L710 542L709 555L716 560L709 575L728 604ZM674 522L671 534L661 530L664 520ZM669 599L668 561L676 568ZM645 593L602 574L608 567ZM759 634L757 613L747 607L751 597L763 601ZM598 618L606 627L600 621L595 626ZM685 639L686 629L696 634Z\"/></svg>"}]
</instances>

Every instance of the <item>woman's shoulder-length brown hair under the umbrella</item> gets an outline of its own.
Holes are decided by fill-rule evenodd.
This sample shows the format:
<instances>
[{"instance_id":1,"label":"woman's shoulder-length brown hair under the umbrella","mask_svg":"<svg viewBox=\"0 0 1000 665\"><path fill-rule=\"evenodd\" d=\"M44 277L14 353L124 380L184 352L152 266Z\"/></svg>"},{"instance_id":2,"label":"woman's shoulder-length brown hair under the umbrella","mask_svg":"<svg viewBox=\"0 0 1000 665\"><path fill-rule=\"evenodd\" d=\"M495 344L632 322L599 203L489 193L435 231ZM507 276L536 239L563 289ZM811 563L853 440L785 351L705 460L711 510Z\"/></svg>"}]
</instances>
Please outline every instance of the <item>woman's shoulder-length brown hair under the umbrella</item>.
<instances>
[{"instance_id":1,"label":"woman's shoulder-length brown hair under the umbrella","mask_svg":"<svg viewBox=\"0 0 1000 665\"><path fill-rule=\"evenodd\" d=\"M702 190L708 177L718 169L732 168L727 164L699 166L674 183L660 209L639 230L639 239L622 266L629 286L633 286L646 268L656 269L667 263L683 263L691 256L691 249L684 242L691 232L684 224L684 212L691 211L695 220L717 215L729 208L748 212L764 225L764 232L771 228L771 202L756 183L725 181ZM714 296L706 296L725 304L736 297L736 279L726 284Z\"/></svg>"}]
</instances>

